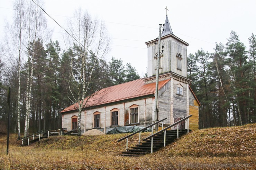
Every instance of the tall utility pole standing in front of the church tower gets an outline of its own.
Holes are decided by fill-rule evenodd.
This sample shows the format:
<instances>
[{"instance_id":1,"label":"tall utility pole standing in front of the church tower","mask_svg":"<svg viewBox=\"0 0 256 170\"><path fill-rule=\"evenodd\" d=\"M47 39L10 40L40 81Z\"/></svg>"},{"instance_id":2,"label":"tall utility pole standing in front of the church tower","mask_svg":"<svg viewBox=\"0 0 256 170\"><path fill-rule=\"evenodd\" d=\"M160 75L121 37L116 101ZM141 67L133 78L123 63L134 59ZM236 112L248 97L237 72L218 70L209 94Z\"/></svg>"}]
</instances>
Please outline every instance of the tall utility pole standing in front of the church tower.
<instances>
[{"instance_id":1,"label":"tall utility pole standing in front of the church tower","mask_svg":"<svg viewBox=\"0 0 256 170\"><path fill-rule=\"evenodd\" d=\"M156 64L156 92L155 92L155 121L158 121L158 80L159 80L159 63L160 63L160 50L161 50L161 28L162 24L159 24L159 36L158 36L158 53L157 53L157 64ZM155 126L155 130L158 131L158 124Z\"/></svg>"}]
</instances>

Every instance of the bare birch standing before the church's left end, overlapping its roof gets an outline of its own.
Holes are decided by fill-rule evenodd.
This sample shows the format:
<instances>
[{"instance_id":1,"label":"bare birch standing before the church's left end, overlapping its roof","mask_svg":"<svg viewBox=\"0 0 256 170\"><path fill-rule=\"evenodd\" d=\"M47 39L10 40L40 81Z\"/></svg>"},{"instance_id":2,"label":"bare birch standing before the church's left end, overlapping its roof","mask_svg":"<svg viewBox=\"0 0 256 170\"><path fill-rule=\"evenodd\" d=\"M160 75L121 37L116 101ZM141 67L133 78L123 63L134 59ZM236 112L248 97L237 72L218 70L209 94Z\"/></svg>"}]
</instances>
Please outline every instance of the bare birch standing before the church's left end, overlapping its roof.
<instances>
[{"instance_id":1,"label":"bare birch standing before the church's left end, overlapping its roof","mask_svg":"<svg viewBox=\"0 0 256 170\"><path fill-rule=\"evenodd\" d=\"M72 97L69 97L70 100L77 103L77 135L80 136L82 110L87 101L95 94L90 90L92 74L97 62L108 52L110 40L107 38L103 22L97 21L97 19L93 20L88 12L82 12L81 9L76 10L74 17L75 19L68 20L67 23L67 30L73 38L66 37L65 43L73 47L76 56L74 60L79 62L76 68L75 64L71 62L68 87L72 94ZM72 88L71 83L75 89Z\"/></svg>"}]
</instances>

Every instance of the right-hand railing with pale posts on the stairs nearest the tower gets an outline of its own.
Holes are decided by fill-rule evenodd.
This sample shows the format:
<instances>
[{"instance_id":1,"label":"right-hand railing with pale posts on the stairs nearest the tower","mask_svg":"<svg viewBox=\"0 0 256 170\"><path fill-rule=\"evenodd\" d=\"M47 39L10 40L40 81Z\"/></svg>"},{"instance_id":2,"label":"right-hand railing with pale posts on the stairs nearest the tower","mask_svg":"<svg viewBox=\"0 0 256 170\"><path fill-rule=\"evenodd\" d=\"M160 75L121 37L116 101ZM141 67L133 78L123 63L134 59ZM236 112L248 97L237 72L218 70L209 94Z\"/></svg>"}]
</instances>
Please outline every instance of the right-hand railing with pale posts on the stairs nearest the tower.
<instances>
[{"instance_id":1,"label":"right-hand railing with pale posts on the stairs nearest the tower","mask_svg":"<svg viewBox=\"0 0 256 170\"><path fill-rule=\"evenodd\" d=\"M183 119L181 119L181 120L179 120L179 121L177 121L177 122L171 124L170 126L167 126L167 127L164 128L164 129L162 129L162 130L160 130L160 131L158 131L158 132L152 134L151 136L149 136L149 137L143 139L143 141L145 141L145 140L151 138L151 153L153 153L153 137L156 136L157 134L164 132L164 147L165 147L165 142L166 142L166 130L170 129L171 127L175 126L176 124L179 124L180 122L182 122L182 121L185 120L185 121L186 121L186 126L185 126L185 127L187 128L188 133L189 133L189 118L190 118L191 116L192 116L192 114L190 114L189 116L187 116L187 117L185 117L185 118L183 118ZM177 138L179 139L179 126L177 126Z\"/></svg>"}]
</instances>

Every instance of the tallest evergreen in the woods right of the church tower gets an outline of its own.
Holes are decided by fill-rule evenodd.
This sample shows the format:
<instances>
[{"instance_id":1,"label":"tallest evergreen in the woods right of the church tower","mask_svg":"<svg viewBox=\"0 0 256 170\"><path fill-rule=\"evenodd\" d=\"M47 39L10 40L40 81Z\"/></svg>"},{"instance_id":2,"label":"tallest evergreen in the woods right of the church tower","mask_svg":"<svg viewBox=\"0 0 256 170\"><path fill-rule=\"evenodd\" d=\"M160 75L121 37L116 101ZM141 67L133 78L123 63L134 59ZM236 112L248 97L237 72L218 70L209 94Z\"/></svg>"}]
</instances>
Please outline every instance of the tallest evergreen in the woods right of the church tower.
<instances>
[{"instance_id":1,"label":"tallest evergreen in the woods right of the church tower","mask_svg":"<svg viewBox=\"0 0 256 170\"><path fill-rule=\"evenodd\" d=\"M231 31L226 43L226 53L229 56L228 63L234 87L233 95L237 103L239 124L248 123L249 105L253 102L250 92L249 72L252 67L247 62L246 47L240 42L236 32Z\"/></svg>"}]
</instances>

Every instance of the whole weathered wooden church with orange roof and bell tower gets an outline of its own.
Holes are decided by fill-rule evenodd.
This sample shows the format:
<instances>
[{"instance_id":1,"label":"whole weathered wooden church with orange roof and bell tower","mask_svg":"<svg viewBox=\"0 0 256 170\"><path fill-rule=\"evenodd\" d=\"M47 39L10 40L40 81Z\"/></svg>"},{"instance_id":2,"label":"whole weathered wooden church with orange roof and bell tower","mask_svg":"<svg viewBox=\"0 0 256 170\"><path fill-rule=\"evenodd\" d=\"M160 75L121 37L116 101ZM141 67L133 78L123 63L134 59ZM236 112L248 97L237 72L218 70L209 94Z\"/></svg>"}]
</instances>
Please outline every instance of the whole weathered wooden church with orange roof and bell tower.
<instances>
[{"instance_id":1,"label":"whole weathered wooden church with orange roof and bell tower","mask_svg":"<svg viewBox=\"0 0 256 170\"><path fill-rule=\"evenodd\" d=\"M81 115L81 132L98 129L104 133L120 126L145 127L155 120L156 39L146 42L148 49L148 77L101 89L88 100ZM187 47L176 37L166 15L161 34L158 83L158 120L167 118L164 126L192 114L189 128L199 127L199 106L187 78ZM61 111L63 130L77 129L78 110L73 104ZM160 126L160 125L159 125Z\"/></svg>"}]
</instances>

